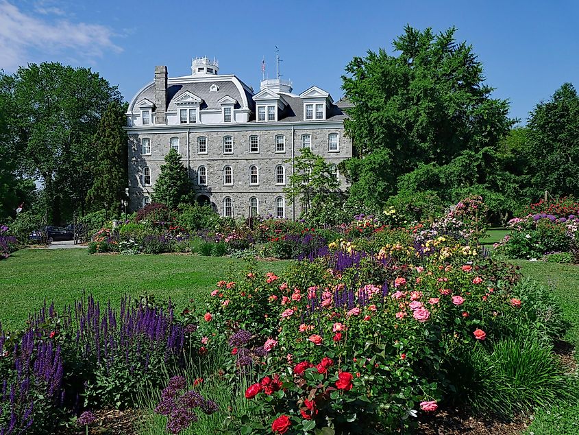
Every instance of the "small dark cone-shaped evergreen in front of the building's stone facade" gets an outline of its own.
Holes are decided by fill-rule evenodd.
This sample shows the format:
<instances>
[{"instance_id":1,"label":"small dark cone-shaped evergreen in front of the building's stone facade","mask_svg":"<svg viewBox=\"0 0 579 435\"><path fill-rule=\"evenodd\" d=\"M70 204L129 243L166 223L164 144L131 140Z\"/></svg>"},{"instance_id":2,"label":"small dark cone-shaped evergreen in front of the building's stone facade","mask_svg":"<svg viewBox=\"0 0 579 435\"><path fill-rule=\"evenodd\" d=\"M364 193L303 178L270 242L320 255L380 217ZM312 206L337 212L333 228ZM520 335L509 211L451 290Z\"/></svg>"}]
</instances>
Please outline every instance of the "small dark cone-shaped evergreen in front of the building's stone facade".
<instances>
[{"instance_id":1,"label":"small dark cone-shaped evergreen in front of the building's stone facade","mask_svg":"<svg viewBox=\"0 0 579 435\"><path fill-rule=\"evenodd\" d=\"M193 183L181 163L181 154L171 148L165 156L165 164L161 165L152 200L175 209L177 204L190 202L193 197Z\"/></svg>"}]
</instances>

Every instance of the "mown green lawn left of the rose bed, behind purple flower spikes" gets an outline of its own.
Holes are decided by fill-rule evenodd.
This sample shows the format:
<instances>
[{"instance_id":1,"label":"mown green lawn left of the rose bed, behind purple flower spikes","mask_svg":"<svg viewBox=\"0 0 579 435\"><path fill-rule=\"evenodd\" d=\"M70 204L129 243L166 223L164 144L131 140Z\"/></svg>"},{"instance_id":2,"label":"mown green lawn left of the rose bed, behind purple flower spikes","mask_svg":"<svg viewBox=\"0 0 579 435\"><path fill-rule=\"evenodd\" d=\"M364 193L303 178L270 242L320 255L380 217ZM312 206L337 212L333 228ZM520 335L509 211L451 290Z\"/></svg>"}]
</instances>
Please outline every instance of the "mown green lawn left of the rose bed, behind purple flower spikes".
<instances>
[{"instance_id":1,"label":"mown green lawn left of the rose bed, behind purple flower spikes","mask_svg":"<svg viewBox=\"0 0 579 435\"><path fill-rule=\"evenodd\" d=\"M280 272L287 261L260 262L263 272ZM197 255L88 255L85 249L26 249L0 262L0 322L23 326L42 301L63 307L92 293L118 303L123 294L169 297L183 307L205 295L215 283L233 277L246 264L240 259Z\"/></svg>"}]
</instances>

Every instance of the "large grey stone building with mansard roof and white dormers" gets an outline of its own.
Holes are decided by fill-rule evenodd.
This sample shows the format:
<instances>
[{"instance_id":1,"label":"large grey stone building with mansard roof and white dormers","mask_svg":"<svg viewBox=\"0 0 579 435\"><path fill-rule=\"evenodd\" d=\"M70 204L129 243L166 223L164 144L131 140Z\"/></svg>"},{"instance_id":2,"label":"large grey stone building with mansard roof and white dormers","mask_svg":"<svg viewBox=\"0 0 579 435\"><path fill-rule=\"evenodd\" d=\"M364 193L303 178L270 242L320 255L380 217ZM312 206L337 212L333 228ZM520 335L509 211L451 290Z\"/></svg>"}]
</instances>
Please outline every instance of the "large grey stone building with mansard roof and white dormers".
<instances>
[{"instance_id":1,"label":"large grey stone building with mansard roof and white dormers","mask_svg":"<svg viewBox=\"0 0 579 435\"><path fill-rule=\"evenodd\" d=\"M175 148L197 200L221 215L298 218L301 204L289 204L283 192L291 158L309 147L337 165L352 156L352 143L339 102L317 86L292 91L291 82L277 78L254 93L236 75L220 75L208 58L193 59L184 77L156 67L155 80L127 111L130 209L150 202L164 156ZM337 167L336 176L342 178Z\"/></svg>"}]
</instances>

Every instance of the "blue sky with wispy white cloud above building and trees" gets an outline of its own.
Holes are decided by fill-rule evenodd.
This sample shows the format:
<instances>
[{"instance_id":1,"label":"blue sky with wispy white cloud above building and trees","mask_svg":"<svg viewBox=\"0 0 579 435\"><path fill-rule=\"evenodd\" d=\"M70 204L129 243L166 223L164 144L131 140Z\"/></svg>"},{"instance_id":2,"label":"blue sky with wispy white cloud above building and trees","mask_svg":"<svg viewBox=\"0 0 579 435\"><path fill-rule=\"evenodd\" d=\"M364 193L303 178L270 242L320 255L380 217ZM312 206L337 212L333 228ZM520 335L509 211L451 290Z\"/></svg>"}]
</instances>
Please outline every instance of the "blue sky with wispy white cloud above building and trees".
<instances>
[{"instance_id":1,"label":"blue sky with wispy white cloud above building and trees","mask_svg":"<svg viewBox=\"0 0 579 435\"><path fill-rule=\"evenodd\" d=\"M338 99L345 64L368 49L392 54L407 23L437 32L456 25L512 117L524 121L563 82L579 88L574 0L0 0L0 69L45 60L91 67L130 100L155 65L186 75L190 58L206 55L258 89L263 57L275 76L278 45L295 92L316 84Z\"/></svg>"}]
</instances>

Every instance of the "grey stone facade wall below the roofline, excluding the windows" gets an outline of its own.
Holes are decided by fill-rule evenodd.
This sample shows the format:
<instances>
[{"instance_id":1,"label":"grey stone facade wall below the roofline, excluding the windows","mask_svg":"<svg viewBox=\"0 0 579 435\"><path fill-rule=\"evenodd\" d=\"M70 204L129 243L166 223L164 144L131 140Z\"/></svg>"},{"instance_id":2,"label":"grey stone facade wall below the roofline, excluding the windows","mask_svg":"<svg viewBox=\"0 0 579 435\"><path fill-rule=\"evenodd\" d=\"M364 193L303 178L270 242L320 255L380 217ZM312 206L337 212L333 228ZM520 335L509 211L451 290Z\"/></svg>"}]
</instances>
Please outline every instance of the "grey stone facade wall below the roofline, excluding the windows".
<instances>
[{"instance_id":1,"label":"grey stone facade wall below the roofline, excluding the windows","mask_svg":"<svg viewBox=\"0 0 579 435\"><path fill-rule=\"evenodd\" d=\"M143 198L151 196L154 185L160 172L160 165L164 156L169 152L171 137L178 137L180 141L180 153L185 166L189 167L189 174L195 183L197 195L208 196L223 215L223 200L225 197L232 198L234 216L249 215L249 198L255 196L259 201L260 215L268 213L275 214L275 198L283 193L283 185L275 183L275 167L283 165L286 168L286 183L292 173L291 162L288 162L293 155L299 155L301 148L302 134L311 134L312 151L323 156L328 162L338 164L345 158L352 156L352 143L344 137L343 126L341 124L330 124L327 126L306 125L284 125L268 126L267 129L252 129L251 126L227 126L227 128L216 127L213 131L208 128L190 128L190 132L151 132L138 134L130 131L129 139L129 188L130 188L130 209L135 210L143 206ZM328 134L338 133L339 151L329 152ZM285 152L275 152L275 137L279 134L285 137ZM187 142L187 135L189 141ZM259 152L249 152L249 137L256 135L259 137ZM233 138L233 153L223 153L223 137ZM199 137L206 137L207 154L199 154L197 144ZM148 138L151 141L151 154L141 154L140 139ZM188 152L187 152L187 143ZM293 150L293 152L292 152ZM197 169L199 166L207 168L207 185L197 184ZM233 185L226 186L223 183L223 169L230 165L233 169ZM256 165L259 169L259 185L249 185L249 167ZM143 186L143 168L147 166L151 169L151 186ZM345 187L345 180L340 178ZM301 212L299 204L289 204L285 201L285 215L287 218L298 218Z\"/></svg>"}]
</instances>

